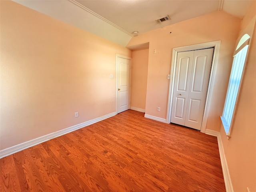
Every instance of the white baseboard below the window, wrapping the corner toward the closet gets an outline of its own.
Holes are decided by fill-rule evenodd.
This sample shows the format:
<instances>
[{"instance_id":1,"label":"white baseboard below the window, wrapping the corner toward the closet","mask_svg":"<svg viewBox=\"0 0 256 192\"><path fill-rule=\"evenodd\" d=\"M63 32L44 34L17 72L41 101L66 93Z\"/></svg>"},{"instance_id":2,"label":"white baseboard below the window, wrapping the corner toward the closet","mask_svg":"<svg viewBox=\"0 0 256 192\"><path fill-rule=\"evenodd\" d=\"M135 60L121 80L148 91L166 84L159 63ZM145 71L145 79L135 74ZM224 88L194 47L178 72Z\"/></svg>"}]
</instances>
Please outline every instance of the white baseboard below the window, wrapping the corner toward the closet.
<instances>
[{"instance_id":1,"label":"white baseboard below the window, wrapping the corner toward the closet","mask_svg":"<svg viewBox=\"0 0 256 192\"><path fill-rule=\"evenodd\" d=\"M224 152L220 132L206 129L205 134L217 137L219 152L220 152L220 162L221 162L221 166L222 166L222 172L223 172L226 192L234 192L232 182L231 182L231 178L230 178L230 174L229 174L229 171L228 171L228 163L227 163L227 160L226 160L226 157L225 157L225 152Z\"/></svg>"}]
</instances>

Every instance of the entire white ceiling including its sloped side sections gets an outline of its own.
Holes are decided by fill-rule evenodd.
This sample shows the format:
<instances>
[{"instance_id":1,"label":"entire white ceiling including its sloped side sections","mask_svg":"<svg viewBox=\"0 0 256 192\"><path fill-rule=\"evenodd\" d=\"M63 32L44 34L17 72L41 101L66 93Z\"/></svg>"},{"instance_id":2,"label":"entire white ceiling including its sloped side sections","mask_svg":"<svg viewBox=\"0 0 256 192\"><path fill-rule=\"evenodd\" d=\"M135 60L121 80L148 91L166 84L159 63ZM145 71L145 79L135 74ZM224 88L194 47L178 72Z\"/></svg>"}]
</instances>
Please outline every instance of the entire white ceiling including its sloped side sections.
<instances>
[{"instance_id":1,"label":"entire white ceiling including its sloped side sections","mask_svg":"<svg viewBox=\"0 0 256 192\"><path fill-rule=\"evenodd\" d=\"M254 0L14 0L15 2L126 46L139 34L215 11L239 18ZM169 15L161 24L156 19Z\"/></svg>"}]
</instances>

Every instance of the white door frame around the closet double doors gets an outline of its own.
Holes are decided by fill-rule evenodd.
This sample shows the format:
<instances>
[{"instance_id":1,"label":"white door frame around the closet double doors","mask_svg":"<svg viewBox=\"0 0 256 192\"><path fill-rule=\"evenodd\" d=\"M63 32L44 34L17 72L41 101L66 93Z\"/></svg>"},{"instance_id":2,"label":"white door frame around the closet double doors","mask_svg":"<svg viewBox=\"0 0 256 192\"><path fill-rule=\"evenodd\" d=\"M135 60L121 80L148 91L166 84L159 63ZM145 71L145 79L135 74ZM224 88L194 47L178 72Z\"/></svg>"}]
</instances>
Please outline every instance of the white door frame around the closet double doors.
<instances>
[{"instance_id":1,"label":"white door frame around the closet double doors","mask_svg":"<svg viewBox=\"0 0 256 192\"><path fill-rule=\"evenodd\" d=\"M169 85L169 93L168 93L166 123L168 124L171 123L171 109L172 109L171 106L172 106L173 93L174 93L174 80L175 80L178 52L214 47L213 56L212 56L212 66L210 70L210 78L209 78L209 83L208 83L208 88L206 93L206 100L204 105L203 120L202 120L202 125L200 130L200 132L205 133L206 123L207 123L209 108L210 108L210 100L211 100L212 91L213 91L213 84L216 78L216 66L217 66L218 56L220 52L220 42L221 41L219 40L219 41L206 42L206 43L189 45L189 46L182 46L182 47L177 47L172 49L172 65L171 65L171 72L170 72L170 85Z\"/></svg>"}]
</instances>

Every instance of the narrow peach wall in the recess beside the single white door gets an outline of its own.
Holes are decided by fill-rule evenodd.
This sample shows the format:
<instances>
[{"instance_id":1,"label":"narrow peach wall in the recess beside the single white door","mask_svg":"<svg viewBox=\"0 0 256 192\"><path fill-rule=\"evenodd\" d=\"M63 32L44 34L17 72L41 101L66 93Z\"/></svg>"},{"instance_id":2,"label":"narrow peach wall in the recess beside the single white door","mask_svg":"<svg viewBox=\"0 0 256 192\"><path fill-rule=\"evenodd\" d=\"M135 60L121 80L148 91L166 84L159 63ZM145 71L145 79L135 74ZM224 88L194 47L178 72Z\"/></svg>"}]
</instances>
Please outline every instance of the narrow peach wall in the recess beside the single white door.
<instances>
[{"instance_id":1,"label":"narrow peach wall in the recess beside the single white door","mask_svg":"<svg viewBox=\"0 0 256 192\"><path fill-rule=\"evenodd\" d=\"M132 51L131 77L131 107L145 110L148 78L148 49Z\"/></svg>"}]
</instances>

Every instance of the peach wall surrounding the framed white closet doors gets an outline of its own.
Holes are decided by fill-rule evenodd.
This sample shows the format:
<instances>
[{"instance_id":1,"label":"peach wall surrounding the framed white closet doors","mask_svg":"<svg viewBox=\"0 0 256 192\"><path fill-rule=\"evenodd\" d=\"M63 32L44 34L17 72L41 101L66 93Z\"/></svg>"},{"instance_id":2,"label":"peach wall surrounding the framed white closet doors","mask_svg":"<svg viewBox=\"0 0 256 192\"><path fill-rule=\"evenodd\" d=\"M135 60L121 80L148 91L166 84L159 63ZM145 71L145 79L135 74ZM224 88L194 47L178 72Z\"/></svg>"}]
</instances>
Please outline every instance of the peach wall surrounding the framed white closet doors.
<instances>
[{"instance_id":1,"label":"peach wall surrounding the framed white closet doors","mask_svg":"<svg viewBox=\"0 0 256 192\"><path fill-rule=\"evenodd\" d=\"M224 12L214 12L133 37L127 46L150 42L146 114L166 119L169 91L166 77L170 74L173 48L221 40L206 126L206 129L219 131L239 26L240 19ZM156 49L156 54L153 54L153 49ZM160 112L157 112L158 106Z\"/></svg>"}]
</instances>

